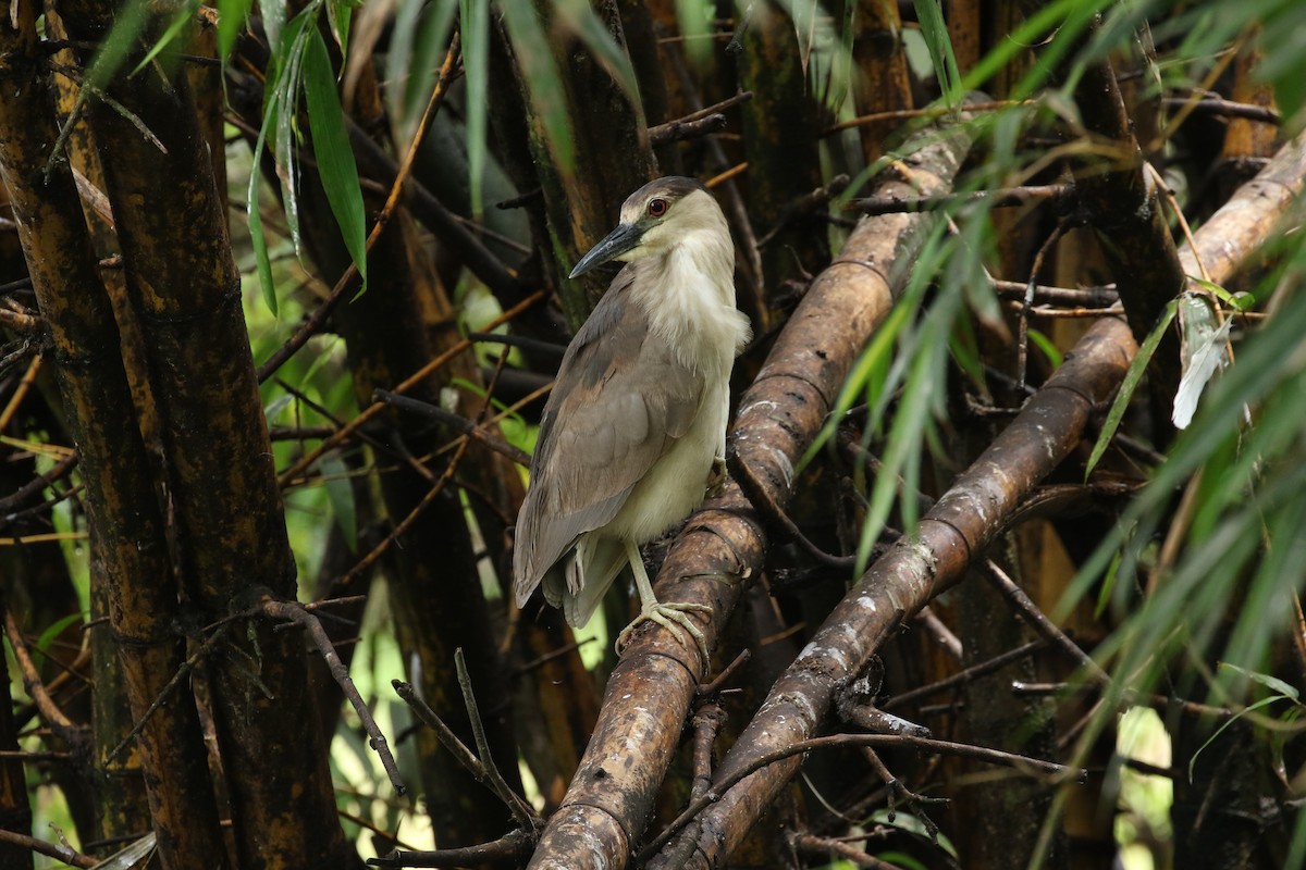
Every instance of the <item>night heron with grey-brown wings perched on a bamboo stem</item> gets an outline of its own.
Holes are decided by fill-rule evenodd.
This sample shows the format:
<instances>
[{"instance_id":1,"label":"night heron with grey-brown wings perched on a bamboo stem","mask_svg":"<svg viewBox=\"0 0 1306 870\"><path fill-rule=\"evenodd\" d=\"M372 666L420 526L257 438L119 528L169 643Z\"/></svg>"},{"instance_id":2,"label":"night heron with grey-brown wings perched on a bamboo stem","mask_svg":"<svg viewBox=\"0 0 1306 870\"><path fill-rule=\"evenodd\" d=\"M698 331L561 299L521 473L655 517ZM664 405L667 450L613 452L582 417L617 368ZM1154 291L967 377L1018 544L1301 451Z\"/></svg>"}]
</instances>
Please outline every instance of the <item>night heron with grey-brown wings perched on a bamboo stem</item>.
<instances>
[{"instance_id":1,"label":"night heron with grey-brown wings perched on a bamboo stem","mask_svg":"<svg viewBox=\"0 0 1306 870\"><path fill-rule=\"evenodd\" d=\"M660 603L639 548L688 517L724 468L730 367L748 340L730 228L701 184L658 179L629 196L571 278L611 260L627 265L568 346L539 423L517 517L517 607L542 586L567 622L585 625L629 565L640 616L618 648L650 620L680 643L688 631L705 664L687 612L709 608Z\"/></svg>"}]
</instances>

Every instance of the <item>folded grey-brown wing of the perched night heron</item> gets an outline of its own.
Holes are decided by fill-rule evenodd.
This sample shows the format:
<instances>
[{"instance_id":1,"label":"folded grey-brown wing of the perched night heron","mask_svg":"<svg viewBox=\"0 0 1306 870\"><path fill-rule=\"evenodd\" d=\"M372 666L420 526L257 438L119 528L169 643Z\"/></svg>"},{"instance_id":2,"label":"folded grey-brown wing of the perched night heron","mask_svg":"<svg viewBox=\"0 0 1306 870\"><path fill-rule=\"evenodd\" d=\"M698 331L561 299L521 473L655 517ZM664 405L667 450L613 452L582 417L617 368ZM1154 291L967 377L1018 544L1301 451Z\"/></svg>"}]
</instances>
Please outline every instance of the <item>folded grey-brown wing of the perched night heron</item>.
<instances>
[{"instance_id":1,"label":"folded grey-brown wing of the perched night heron","mask_svg":"<svg viewBox=\"0 0 1306 870\"><path fill-rule=\"evenodd\" d=\"M518 607L579 535L607 523L703 402L703 380L650 339L629 296L639 266L613 282L567 348L545 406L517 519Z\"/></svg>"}]
</instances>

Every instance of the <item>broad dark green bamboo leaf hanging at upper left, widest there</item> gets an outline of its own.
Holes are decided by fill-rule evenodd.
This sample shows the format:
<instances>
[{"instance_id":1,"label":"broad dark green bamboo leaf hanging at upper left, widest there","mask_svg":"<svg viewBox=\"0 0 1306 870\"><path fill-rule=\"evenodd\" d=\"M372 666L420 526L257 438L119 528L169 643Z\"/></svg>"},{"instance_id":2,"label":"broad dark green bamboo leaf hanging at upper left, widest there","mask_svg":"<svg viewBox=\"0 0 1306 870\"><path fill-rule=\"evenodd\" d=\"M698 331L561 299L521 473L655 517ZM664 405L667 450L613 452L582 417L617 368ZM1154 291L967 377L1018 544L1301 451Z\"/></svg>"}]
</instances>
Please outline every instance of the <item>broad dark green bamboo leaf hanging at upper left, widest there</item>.
<instances>
[{"instance_id":1,"label":"broad dark green bamboo leaf hanging at upper left, widest there","mask_svg":"<svg viewBox=\"0 0 1306 870\"><path fill-rule=\"evenodd\" d=\"M367 218L363 211L363 192L358 183L354 151L349 146L345 113L336 93L336 74L332 70L326 40L315 27L304 52L304 98L308 102L308 124L312 129L313 157L321 176L326 201L340 224L345 248L358 274L367 284Z\"/></svg>"}]
</instances>

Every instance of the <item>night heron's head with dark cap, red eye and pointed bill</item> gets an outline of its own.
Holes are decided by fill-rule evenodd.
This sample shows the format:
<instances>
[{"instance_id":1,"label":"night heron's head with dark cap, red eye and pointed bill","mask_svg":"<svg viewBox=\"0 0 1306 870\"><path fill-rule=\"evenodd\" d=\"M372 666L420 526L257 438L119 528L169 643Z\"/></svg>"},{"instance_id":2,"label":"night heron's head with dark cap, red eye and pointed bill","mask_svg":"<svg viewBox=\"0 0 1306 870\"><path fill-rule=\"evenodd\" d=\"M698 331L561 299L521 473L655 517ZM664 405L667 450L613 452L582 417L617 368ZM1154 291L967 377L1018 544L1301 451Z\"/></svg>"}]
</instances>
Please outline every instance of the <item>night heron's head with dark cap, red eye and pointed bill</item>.
<instances>
[{"instance_id":1,"label":"night heron's head with dark cap, red eye and pointed bill","mask_svg":"<svg viewBox=\"0 0 1306 870\"><path fill-rule=\"evenodd\" d=\"M649 181L622 203L622 222L580 258L569 278L613 260L665 253L701 230L730 239L721 206L707 188L675 175Z\"/></svg>"}]
</instances>

